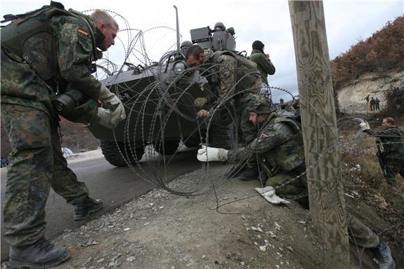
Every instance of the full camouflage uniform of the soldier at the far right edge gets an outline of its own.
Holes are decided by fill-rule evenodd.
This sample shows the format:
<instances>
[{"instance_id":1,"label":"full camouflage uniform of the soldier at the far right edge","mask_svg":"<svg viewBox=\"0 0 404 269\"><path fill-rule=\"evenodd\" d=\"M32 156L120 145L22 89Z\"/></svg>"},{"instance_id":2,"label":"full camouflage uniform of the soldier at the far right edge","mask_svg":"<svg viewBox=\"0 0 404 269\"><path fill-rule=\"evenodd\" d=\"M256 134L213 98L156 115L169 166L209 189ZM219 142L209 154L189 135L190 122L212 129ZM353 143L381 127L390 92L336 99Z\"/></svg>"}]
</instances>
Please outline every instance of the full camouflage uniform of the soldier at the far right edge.
<instances>
[{"instance_id":1,"label":"full camouflage uniform of the soldier at the far right edge","mask_svg":"<svg viewBox=\"0 0 404 269\"><path fill-rule=\"evenodd\" d=\"M386 163L383 172L390 186L396 186L396 175L404 177L404 131L398 127L389 127L383 131L365 130L371 136L380 139L384 152L386 153Z\"/></svg>"}]
</instances>

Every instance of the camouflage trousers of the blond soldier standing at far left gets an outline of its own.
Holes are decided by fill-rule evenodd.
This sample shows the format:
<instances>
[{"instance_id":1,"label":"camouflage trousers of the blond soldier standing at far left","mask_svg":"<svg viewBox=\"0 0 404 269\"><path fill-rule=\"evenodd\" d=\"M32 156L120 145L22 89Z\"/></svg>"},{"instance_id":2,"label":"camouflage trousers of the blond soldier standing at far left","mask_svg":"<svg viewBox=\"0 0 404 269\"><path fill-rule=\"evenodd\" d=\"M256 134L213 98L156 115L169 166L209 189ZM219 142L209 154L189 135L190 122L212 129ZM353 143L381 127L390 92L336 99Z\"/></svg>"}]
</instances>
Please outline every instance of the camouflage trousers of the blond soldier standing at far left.
<instances>
[{"instance_id":1,"label":"camouflage trousers of the blond soldier standing at far left","mask_svg":"<svg viewBox=\"0 0 404 269\"><path fill-rule=\"evenodd\" d=\"M20 247L44 236L51 187L68 202L88 195L88 190L68 168L57 127L46 113L1 104L1 120L12 147L3 204L4 239Z\"/></svg>"}]
</instances>

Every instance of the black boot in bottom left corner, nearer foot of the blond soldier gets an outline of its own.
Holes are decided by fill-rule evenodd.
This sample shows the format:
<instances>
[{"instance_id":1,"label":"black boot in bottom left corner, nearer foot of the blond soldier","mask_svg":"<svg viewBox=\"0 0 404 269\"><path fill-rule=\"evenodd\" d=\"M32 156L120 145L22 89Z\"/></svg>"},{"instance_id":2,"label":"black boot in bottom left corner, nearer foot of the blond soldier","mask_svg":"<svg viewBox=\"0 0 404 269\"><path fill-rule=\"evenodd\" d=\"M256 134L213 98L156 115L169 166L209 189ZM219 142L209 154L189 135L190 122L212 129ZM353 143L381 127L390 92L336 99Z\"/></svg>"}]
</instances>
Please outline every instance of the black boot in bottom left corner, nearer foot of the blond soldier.
<instances>
[{"instance_id":1,"label":"black boot in bottom left corner, nearer foot of the blond soldier","mask_svg":"<svg viewBox=\"0 0 404 269\"><path fill-rule=\"evenodd\" d=\"M32 245L10 247L8 266L12 268L49 268L57 266L70 257L67 247L56 247L45 238Z\"/></svg>"}]
</instances>

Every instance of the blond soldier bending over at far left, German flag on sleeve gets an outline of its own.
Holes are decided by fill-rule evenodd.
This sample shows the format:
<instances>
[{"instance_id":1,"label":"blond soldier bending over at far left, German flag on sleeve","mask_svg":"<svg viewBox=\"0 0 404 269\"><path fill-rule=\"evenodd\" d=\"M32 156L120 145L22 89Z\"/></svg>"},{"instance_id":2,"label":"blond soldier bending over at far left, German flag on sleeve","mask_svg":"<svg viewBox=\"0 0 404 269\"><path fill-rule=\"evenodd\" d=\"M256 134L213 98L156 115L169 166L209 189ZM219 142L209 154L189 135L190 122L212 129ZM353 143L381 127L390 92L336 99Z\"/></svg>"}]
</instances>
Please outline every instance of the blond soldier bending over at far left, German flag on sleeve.
<instances>
[{"instance_id":1,"label":"blond soldier bending over at far left, German flag on sleeve","mask_svg":"<svg viewBox=\"0 0 404 269\"><path fill-rule=\"evenodd\" d=\"M118 97L91 76L92 62L114 44L118 24L102 10L88 17L51 2L1 28L1 120L13 152L4 199L4 238L9 266L48 268L69 258L67 247L44 238L45 204L53 188L74 207L74 219L99 211L102 202L68 168L61 152L56 98L75 90L84 96L66 117L116 127L125 119ZM56 94L58 94L56 96ZM104 108L97 108L98 101ZM78 101L79 99L75 99ZM84 102L84 103L83 103Z\"/></svg>"}]
</instances>

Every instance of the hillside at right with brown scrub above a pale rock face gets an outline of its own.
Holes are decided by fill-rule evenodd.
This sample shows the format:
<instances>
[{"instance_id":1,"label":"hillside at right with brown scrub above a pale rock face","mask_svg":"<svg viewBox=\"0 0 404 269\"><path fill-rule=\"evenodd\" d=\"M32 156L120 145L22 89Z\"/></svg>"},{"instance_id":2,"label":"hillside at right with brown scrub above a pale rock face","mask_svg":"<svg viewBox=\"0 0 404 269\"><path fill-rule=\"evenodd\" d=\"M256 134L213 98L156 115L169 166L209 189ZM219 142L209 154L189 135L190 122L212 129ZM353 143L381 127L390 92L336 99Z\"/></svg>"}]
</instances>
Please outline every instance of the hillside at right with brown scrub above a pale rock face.
<instances>
[{"instance_id":1,"label":"hillside at right with brown scrub above a pale rock face","mask_svg":"<svg viewBox=\"0 0 404 269\"><path fill-rule=\"evenodd\" d=\"M368 95L378 97L380 109L385 108L387 90L404 90L404 16L350 47L331 66L341 112L368 112Z\"/></svg>"}]
</instances>

